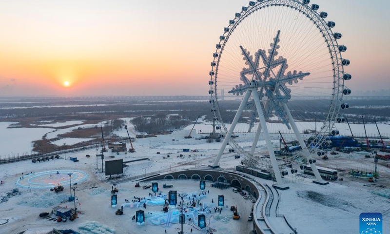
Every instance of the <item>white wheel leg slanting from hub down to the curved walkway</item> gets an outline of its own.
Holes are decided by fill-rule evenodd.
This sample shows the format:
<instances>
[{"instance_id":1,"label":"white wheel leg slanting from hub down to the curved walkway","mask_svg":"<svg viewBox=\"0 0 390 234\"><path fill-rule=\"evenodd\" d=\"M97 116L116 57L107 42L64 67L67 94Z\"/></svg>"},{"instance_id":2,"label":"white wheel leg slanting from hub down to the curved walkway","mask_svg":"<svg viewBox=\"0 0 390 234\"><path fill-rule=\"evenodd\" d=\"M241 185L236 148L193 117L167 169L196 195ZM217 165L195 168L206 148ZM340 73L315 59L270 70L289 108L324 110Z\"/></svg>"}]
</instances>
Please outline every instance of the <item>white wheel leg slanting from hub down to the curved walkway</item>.
<instances>
[{"instance_id":1,"label":"white wheel leg slanting from hub down to the curved walkway","mask_svg":"<svg viewBox=\"0 0 390 234\"><path fill-rule=\"evenodd\" d=\"M260 119L260 124L263 128L263 134L264 134L265 141L267 143L268 153L270 154L273 173L275 174L275 178L276 178L277 184L274 186L279 187L283 190L288 189L288 187L283 186L283 179L282 179L282 176L280 176L279 167L277 166L277 161L276 161L275 153L273 152L273 146L272 146L270 134L268 133L263 109L261 108L260 99L257 95L256 88L253 88L252 92L254 93L254 95L253 95L254 104L256 105L256 110L257 110L257 114L258 114L259 119Z\"/></svg>"}]
</instances>

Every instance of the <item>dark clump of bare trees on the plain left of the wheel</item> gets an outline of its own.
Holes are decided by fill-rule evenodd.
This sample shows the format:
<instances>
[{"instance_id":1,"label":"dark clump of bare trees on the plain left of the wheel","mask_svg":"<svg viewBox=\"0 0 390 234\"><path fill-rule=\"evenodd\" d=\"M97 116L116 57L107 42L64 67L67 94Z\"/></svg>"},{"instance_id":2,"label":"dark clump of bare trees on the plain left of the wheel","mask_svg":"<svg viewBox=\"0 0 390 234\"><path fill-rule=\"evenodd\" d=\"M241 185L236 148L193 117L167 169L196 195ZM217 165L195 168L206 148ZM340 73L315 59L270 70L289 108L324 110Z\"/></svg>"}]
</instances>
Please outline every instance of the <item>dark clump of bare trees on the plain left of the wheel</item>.
<instances>
[{"instance_id":1,"label":"dark clump of bare trees on the plain left of the wheel","mask_svg":"<svg viewBox=\"0 0 390 234\"><path fill-rule=\"evenodd\" d=\"M183 119L182 116L167 116L163 113L159 113L150 117L136 117L131 120L131 123L134 125L134 128L137 132L145 132L147 134L162 131L173 131L188 125L190 122L191 121L188 119Z\"/></svg>"}]
</instances>

